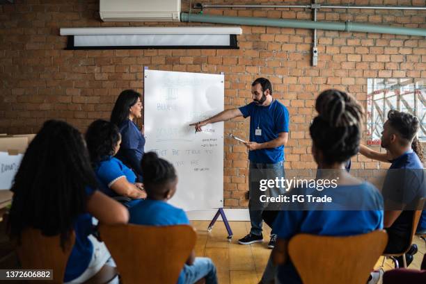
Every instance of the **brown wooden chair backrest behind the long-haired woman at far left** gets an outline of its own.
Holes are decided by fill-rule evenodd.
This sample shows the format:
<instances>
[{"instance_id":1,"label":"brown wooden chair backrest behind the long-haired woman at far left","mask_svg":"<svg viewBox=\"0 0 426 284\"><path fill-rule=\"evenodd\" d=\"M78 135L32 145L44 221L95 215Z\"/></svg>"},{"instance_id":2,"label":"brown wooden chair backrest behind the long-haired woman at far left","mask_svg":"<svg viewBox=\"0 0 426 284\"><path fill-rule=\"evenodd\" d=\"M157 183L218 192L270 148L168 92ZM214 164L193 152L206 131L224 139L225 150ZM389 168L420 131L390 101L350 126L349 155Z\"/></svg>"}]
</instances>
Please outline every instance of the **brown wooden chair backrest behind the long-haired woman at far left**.
<instances>
[{"instance_id":1,"label":"brown wooden chair backrest behind the long-haired woman at far left","mask_svg":"<svg viewBox=\"0 0 426 284\"><path fill-rule=\"evenodd\" d=\"M40 230L29 228L22 232L17 254L23 269L53 269L54 280L46 283L63 283L65 267L74 242L75 234L72 231L63 250L60 235L47 237Z\"/></svg>"}]
</instances>

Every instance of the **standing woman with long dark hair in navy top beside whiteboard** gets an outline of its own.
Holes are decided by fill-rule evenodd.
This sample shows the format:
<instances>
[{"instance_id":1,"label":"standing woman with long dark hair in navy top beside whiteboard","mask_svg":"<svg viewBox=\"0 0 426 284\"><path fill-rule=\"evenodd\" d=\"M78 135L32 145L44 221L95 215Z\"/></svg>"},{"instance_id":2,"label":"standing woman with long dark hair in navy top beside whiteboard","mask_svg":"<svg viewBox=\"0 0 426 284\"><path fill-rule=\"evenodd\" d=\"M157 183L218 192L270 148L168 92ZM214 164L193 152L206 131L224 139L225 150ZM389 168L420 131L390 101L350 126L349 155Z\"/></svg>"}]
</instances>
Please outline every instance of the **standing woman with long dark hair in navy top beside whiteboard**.
<instances>
[{"instance_id":1,"label":"standing woman with long dark hair in navy top beside whiteboard","mask_svg":"<svg viewBox=\"0 0 426 284\"><path fill-rule=\"evenodd\" d=\"M116 158L132 169L139 182L143 181L141 160L145 137L143 131L134 123L134 119L142 117L142 108L141 94L134 90L124 90L118 96L111 112L111 122L118 126L121 133L121 146Z\"/></svg>"}]
</instances>

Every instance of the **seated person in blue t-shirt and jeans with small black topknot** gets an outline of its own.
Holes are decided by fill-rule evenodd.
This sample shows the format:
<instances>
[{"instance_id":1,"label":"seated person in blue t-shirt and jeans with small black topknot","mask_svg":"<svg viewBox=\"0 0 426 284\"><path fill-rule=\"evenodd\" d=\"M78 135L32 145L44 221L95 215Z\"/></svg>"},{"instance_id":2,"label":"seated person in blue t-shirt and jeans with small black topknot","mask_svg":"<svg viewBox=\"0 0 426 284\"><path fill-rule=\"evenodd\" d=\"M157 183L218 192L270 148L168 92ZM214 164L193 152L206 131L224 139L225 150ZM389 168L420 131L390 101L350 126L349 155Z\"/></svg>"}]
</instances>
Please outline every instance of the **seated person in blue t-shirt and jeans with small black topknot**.
<instances>
[{"instance_id":1,"label":"seated person in blue t-shirt and jeans with small black topknot","mask_svg":"<svg viewBox=\"0 0 426 284\"><path fill-rule=\"evenodd\" d=\"M156 153L148 152L143 155L141 167L148 197L129 209L129 223L148 226L189 225L184 210L167 203L175 194L178 184L173 165L158 158ZM210 258L196 258L192 251L177 283L194 284L201 278L205 278L206 284L216 284L216 267Z\"/></svg>"}]
</instances>

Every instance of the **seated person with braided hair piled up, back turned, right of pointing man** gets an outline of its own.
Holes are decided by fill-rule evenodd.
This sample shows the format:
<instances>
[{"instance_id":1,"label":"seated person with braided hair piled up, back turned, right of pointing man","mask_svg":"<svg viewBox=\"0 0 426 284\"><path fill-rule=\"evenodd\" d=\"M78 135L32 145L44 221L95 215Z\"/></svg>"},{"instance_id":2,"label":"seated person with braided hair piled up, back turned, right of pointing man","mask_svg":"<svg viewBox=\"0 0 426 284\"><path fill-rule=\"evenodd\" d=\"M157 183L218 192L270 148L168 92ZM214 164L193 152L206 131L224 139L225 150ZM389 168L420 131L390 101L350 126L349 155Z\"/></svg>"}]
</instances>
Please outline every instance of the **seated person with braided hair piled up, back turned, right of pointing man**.
<instances>
[{"instance_id":1,"label":"seated person with braided hair piled up, back turned, right of pointing man","mask_svg":"<svg viewBox=\"0 0 426 284\"><path fill-rule=\"evenodd\" d=\"M333 197L333 202L305 202L293 208L296 210L282 210L278 213L273 224L278 240L271 254L279 265L278 283L301 283L299 274L287 257L287 244L294 235L358 235L383 228L381 194L373 185L359 181L345 170L347 160L358 153L363 109L345 92L324 92L332 92L333 96L324 106L324 112L313 119L309 128L313 140L312 153L318 167L322 169L319 178L335 180L337 185L326 189L294 188L289 194L298 191L317 196L326 194ZM262 283L267 283L263 279Z\"/></svg>"}]
</instances>

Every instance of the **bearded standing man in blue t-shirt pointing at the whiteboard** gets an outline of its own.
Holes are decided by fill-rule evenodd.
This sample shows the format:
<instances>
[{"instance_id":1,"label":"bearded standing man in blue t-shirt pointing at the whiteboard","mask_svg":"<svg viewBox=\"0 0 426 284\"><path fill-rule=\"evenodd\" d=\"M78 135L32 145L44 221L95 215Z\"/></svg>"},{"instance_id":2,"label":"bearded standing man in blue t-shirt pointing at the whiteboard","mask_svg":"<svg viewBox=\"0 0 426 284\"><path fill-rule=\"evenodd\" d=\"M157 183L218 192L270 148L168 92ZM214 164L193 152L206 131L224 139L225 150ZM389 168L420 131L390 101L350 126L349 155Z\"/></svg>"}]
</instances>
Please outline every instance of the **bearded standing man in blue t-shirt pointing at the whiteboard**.
<instances>
[{"instance_id":1,"label":"bearded standing man in blue t-shirt pointing at the whiteboard","mask_svg":"<svg viewBox=\"0 0 426 284\"><path fill-rule=\"evenodd\" d=\"M214 122L223 122L235 117L250 117L250 140L244 143L248 149L250 160L248 173L248 211L250 212L251 231L239 240L239 244L262 242L262 210L267 203L260 202L260 195L277 197L284 190L272 187L260 191L260 180L285 177L284 147L288 140L290 115L282 103L272 97L272 85L266 78L257 78L251 84L253 101L246 106L224 110L202 122L191 124L196 131L202 131L201 126ZM275 245L276 235L271 235L269 248Z\"/></svg>"}]
</instances>

